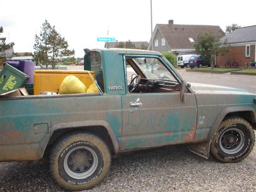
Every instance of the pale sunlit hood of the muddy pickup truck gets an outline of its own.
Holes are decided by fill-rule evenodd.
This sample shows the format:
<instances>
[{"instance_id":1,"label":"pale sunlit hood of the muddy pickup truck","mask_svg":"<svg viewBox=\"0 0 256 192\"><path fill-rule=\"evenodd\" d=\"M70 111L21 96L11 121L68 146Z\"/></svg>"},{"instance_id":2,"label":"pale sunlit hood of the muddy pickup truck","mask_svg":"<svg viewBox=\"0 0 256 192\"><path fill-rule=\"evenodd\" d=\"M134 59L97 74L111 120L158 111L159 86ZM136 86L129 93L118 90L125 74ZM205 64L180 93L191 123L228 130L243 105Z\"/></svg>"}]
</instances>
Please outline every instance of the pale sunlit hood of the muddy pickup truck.
<instances>
[{"instance_id":1,"label":"pale sunlit hood of the muddy pickup truck","mask_svg":"<svg viewBox=\"0 0 256 192\"><path fill-rule=\"evenodd\" d=\"M231 87L224 87L218 85L209 85L209 84L202 84L202 83L190 83L191 89L194 91L240 91L240 92L248 92L247 90L243 89L236 89Z\"/></svg>"}]
</instances>

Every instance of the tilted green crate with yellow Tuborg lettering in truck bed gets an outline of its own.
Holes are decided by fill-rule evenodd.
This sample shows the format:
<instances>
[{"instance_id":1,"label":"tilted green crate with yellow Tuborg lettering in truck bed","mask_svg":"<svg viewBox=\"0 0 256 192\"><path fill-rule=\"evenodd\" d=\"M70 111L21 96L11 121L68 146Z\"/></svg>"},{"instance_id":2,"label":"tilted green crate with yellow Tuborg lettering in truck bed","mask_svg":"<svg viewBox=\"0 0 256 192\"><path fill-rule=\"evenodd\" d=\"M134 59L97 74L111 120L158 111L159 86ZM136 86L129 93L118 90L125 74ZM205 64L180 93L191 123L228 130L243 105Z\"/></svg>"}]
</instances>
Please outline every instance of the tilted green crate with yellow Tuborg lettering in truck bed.
<instances>
[{"instance_id":1,"label":"tilted green crate with yellow Tuborg lettering in truck bed","mask_svg":"<svg viewBox=\"0 0 256 192\"><path fill-rule=\"evenodd\" d=\"M6 64L0 73L0 94L24 87L28 79L25 73Z\"/></svg>"}]
</instances>

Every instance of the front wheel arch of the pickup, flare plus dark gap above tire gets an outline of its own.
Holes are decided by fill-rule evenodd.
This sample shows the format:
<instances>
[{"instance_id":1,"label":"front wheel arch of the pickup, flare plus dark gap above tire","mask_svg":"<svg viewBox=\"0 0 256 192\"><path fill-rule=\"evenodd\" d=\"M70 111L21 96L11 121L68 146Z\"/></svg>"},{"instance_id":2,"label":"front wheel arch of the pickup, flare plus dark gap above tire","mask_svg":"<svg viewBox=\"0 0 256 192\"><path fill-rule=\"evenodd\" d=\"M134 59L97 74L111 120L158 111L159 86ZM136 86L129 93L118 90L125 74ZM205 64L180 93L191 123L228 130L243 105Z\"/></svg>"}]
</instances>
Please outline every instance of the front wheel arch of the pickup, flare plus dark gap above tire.
<instances>
[{"instance_id":1,"label":"front wheel arch of the pickup, flare plus dark gap above tire","mask_svg":"<svg viewBox=\"0 0 256 192\"><path fill-rule=\"evenodd\" d=\"M250 107L250 106L226 107L222 111L220 111L219 115L217 116L207 136L207 140L212 139L220 123L229 116L242 117L245 120L247 120L252 125L252 127L254 127L254 124L256 123L256 113L253 107ZM256 126L254 128L256 128Z\"/></svg>"}]
</instances>

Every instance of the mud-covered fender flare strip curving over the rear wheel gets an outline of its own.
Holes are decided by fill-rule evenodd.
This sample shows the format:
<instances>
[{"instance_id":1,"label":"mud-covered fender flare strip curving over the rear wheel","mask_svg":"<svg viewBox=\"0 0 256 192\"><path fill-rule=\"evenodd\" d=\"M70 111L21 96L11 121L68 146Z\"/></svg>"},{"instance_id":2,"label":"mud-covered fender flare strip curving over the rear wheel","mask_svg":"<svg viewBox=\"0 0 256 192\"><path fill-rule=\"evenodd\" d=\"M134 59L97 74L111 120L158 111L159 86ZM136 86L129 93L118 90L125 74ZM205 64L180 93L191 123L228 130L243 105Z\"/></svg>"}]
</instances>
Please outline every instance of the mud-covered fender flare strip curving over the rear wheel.
<instances>
[{"instance_id":1,"label":"mud-covered fender flare strip curving over the rear wheel","mask_svg":"<svg viewBox=\"0 0 256 192\"><path fill-rule=\"evenodd\" d=\"M118 144L116 135L114 134L113 129L110 127L107 121L104 121L104 120L71 121L71 122L65 122L65 123L57 123L49 128L49 133L45 135L43 141L41 141L39 144L38 157L39 158L43 157L44 151L47 147L47 144L52 134L57 130L65 129L65 128L79 128L79 127L90 127L90 126L103 126L105 129L107 129L107 132L113 143L115 153L119 151L119 144Z\"/></svg>"}]
</instances>

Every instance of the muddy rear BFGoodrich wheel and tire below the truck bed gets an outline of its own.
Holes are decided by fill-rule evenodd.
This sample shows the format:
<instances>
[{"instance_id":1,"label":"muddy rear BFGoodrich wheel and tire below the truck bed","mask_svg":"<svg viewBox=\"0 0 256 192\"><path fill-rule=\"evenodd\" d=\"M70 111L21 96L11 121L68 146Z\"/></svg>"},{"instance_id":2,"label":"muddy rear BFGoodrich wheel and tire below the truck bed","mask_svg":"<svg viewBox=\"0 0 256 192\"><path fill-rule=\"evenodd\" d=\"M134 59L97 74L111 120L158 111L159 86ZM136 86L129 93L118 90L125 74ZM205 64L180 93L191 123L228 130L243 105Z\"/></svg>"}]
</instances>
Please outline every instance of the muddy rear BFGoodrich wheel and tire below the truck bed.
<instances>
[{"instance_id":1,"label":"muddy rear BFGoodrich wheel and tire below the truck bed","mask_svg":"<svg viewBox=\"0 0 256 192\"><path fill-rule=\"evenodd\" d=\"M107 174L111 157L97 135L77 131L61 137L50 153L50 173L58 185L69 191L87 190Z\"/></svg>"}]
</instances>

